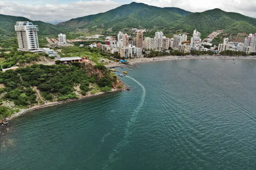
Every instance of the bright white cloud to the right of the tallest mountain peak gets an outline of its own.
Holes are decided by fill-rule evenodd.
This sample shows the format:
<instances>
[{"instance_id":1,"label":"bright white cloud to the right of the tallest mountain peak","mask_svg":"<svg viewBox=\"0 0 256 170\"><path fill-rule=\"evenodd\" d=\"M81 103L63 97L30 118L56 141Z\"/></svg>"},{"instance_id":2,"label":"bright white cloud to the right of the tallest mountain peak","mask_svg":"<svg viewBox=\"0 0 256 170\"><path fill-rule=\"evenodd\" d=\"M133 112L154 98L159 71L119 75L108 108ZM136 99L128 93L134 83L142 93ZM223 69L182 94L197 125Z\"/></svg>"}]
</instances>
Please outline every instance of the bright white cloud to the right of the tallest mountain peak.
<instances>
[{"instance_id":1,"label":"bright white cloud to the right of the tallest mountain peak","mask_svg":"<svg viewBox=\"0 0 256 170\"><path fill-rule=\"evenodd\" d=\"M220 8L227 12L238 12L256 18L254 0L133 0L158 7L178 7L191 12L202 12Z\"/></svg>"}]
</instances>

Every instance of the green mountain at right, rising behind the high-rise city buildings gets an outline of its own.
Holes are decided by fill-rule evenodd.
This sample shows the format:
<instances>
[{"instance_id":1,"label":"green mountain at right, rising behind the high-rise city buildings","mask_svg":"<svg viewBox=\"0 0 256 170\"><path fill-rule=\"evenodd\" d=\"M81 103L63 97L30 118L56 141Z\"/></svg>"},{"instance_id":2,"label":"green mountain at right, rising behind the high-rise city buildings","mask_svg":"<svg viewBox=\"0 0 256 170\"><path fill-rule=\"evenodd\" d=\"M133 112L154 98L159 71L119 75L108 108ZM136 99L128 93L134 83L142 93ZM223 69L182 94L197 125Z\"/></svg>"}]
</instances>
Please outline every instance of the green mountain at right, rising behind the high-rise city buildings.
<instances>
[{"instance_id":1,"label":"green mountain at right, rising behind the high-rise city buildings","mask_svg":"<svg viewBox=\"0 0 256 170\"><path fill-rule=\"evenodd\" d=\"M254 33L256 31L256 19L216 8L191 13L175 22L168 23L163 28L166 30L183 29L189 33L197 29L203 38L217 29L224 29L224 34L237 35L238 33Z\"/></svg>"}]
</instances>

